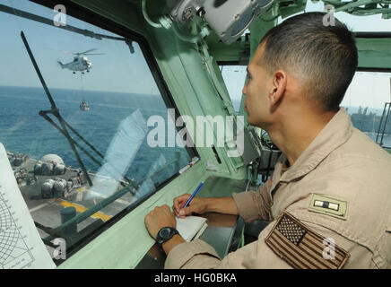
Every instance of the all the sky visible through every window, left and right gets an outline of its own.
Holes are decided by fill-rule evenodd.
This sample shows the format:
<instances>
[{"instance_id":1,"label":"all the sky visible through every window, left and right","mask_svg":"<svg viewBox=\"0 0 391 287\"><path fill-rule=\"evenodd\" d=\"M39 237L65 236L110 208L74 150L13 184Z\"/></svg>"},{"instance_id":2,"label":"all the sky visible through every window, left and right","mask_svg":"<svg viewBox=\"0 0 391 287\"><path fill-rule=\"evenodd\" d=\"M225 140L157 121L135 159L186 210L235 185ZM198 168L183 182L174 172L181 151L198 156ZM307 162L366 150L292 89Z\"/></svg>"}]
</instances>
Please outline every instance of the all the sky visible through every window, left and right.
<instances>
[{"instance_id":1,"label":"all the sky visible through every window, left and right","mask_svg":"<svg viewBox=\"0 0 391 287\"><path fill-rule=\"evenodd\" d=\"M53 19L57 14L27 0L0 0L0 4L37 13L48 19ZM313 4L308 1L306 11L323 11L323 3ZM354 31L391 31L391 20L381 19L381 15L363 17L341 12L335 16ZM107 30L70 16L66 17L66 22L81 29L113 35ZM91 39L6 13L0 13L0 85L41 86L22 44L21 30L30 43L49 88L159 94L137 43L134 43L135 54L131 55L129 48L122 41ZM83 52L91 48L97 48L93 53L104 53L88 56L92 62L91 73L72 74L57 65L58 60L63 63L73 60L73 56L64 51ZM225 66L222 75L231 99L240 100L246 66ZM384 102L390 100L390 77L391 74L357 72L346 92L343 106L382 109Z\"/></svg>"}]
</instances>

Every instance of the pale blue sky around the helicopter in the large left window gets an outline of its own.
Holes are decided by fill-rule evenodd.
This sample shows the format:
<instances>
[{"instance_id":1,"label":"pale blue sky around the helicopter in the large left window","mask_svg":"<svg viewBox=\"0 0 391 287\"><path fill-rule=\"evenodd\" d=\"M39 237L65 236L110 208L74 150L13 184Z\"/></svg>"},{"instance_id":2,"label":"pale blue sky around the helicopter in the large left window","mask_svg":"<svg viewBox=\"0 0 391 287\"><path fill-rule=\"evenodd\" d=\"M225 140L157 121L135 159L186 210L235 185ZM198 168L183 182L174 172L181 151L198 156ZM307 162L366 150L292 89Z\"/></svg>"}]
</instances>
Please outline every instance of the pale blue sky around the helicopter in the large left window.
<instances>
[{"instance_id":1,"label":"pale blue sky around the helicopter in the large left window","mask_svg":"<svg viewBox=\"0 0 391 287\"><path fill-rule=\"evenodd\" d=\"M26 0L0 0L0 4L29 13L54 19L57 12ZM117 36L107 30L66 16L66 24L96 33ZM53 26L30 21L0 12L0 85L40 87L38 75L22 43L24 31L39 69L50 88L84 89L90 91L118 91L144 94L160 94L152 74L137 43L135 54L130 54L126 43L112 39L92 39ZM72 74L61 69L63 64L73 61L69 52L104 55L87 56L92 63L90 73ZM65 53L68 52L68 53Z\"/></svg>"}]
</instances>

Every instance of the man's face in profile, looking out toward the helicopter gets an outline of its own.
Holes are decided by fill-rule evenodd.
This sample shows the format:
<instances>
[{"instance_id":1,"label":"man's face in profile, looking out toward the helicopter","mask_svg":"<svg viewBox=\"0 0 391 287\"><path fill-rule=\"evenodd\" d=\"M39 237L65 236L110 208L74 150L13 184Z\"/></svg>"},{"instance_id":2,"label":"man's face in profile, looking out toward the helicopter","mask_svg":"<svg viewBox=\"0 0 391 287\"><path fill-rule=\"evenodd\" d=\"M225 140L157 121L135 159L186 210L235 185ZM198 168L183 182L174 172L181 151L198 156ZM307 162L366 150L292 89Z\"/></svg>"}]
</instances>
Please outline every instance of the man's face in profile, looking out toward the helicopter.
<instances>
[{"instance_id":1,"label":"man's face in profile, looking out toward the helicopter","mask_svg":"<svg viewBox=\"0 0 391 287\"><path fill-rule=\"evenodd\" d=\"M257 65L264 53L263 46L256 49L256 55L248 65L248 81L243 88L244 110L248 114L248 124L265 128L270 120L269 93L272 89L272 76Z\"/></svg>"}]
</instances>

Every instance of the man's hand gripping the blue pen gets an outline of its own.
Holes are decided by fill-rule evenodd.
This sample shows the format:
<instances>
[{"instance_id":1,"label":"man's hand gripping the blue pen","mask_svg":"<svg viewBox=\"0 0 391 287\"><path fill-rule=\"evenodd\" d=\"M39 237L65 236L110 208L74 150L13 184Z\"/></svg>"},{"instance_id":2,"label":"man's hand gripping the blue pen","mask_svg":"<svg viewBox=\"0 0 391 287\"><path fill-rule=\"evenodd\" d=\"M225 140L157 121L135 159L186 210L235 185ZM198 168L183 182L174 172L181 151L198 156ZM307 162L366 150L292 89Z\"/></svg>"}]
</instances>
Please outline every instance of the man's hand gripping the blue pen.
<instances>
[{"instance_id":1,"label":"man's hand gripping the blue pen","mask_svg":"<svg viewBox=\"0 0 391 287\"><path fill-rule=\"evenodd\" d=\"M174 198L173 209L177 216L184 218L192 213L203 214L207 212L207 199L203 197L193 197L190 204L183 208L191 195L186 194Z\"/></svg>"}]
</instances>

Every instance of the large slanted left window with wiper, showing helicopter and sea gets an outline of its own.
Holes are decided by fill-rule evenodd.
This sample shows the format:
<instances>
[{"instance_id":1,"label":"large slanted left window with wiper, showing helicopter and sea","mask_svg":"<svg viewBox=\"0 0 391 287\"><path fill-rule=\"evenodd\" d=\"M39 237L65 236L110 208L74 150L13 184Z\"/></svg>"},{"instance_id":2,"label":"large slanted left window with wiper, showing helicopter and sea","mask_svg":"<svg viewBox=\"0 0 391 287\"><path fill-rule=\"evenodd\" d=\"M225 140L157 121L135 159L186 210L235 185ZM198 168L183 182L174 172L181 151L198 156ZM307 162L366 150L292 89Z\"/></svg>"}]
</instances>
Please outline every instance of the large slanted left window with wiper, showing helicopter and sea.
<instances>
[{"instance_id":1,"label":"large slanted left window with wiper, showing helicopter and sea","mask_svg":"<svg viewBox=\"0 0 391 287\"><path fill-rule=\"evenodd\" d=\"M42 239L49 245L55 230L72 252L195 161L196 151L169 147L168 138L164 146L148 141L154 127L148 119L169 122L174 107L143 43L69 14L68 29L16 16L19 10L48 20L56 15L27 0L0 4L14 11L0 11L0 142ZM74 211L77 225L62 228Z\"/></svg>"}]
</instances>

